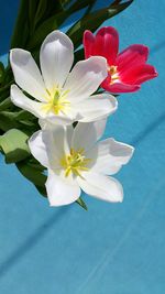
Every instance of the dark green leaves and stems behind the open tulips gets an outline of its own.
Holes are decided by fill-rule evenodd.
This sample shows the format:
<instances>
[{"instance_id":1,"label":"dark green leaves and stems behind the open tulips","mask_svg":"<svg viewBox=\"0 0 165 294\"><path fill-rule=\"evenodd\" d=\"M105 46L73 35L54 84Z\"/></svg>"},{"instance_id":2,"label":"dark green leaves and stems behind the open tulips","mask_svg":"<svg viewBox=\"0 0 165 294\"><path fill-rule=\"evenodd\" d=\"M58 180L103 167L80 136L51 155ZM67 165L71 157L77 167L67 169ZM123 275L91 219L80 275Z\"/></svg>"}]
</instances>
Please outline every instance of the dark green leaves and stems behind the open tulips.
<instances>
[{"instance_id":1,"label":"dark green leaves and stems behind the open tulips","mask_svg":"<svg viewBox=\"0 0 165 294\"><path fill-rule=\"evenodd\" d=\"M73 13L85 9L80 20L67 31L77 50L86 29L95 32L106 20L127 9L133 0L114 0L108 7L91 12L95 2L96 0L21 0L11 48L31 51L38 63L40 46L45 36L59 29ZM82 58L84 50L80 48L75 53L75 62ZM0 152L7 163L15 163L20 173L46 196L44 167L32 157L28 146L28 139L40 128L37 119L11 102L10 86L13 83L10 64L4 68L0 63ZM77 204L87 210L81 198Z\"/></svg>"}]
</instances>

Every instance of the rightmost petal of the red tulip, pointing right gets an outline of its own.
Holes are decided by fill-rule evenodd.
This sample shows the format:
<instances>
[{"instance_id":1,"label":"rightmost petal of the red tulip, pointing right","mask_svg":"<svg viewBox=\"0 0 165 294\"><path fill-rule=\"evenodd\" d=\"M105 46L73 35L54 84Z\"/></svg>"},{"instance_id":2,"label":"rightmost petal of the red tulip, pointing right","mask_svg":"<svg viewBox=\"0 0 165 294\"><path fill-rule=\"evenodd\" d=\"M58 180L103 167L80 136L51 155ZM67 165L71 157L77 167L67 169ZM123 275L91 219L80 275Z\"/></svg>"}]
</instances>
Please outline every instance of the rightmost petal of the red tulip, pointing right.
<instances>
[{"instance_id":1,"label":"rightmost petal of the red tulip, pointing right","mask_svg":"<svg viewBox=\"0 0 165 294\"><path fill-rule=\"evenodd\" d=\"M154 66L150 64L143 64L143 65L141 64L121 74L120 78L125 84L140 85L156 76L157 76L157 72L155 70Z\"/></svg>"}]
</instances>

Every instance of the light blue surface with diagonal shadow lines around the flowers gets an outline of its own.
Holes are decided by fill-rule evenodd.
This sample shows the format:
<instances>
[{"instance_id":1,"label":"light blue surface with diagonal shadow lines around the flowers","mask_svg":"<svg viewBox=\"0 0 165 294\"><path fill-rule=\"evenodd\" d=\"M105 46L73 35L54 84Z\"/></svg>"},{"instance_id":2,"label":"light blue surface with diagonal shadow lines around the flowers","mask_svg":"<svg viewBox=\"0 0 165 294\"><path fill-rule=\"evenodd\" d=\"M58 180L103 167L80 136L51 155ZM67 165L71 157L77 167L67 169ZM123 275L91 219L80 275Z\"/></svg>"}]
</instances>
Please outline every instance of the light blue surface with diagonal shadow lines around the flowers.
<instances>
[{"instance_id":1,"label":"light blue surface with diagonal shadow lines around the flowers","mask_svg":"<svg viewBox=\"0 0 165 294\"><path fill-rule=\"evenodd\" d=\"M121 48L147 44L160 73L119 98L107 127L106 137L136 149L118 176L123 204L85 196L88 213L77 205L50 208L0 157L0 293L165 293L164 11L164 0L139 0L108 22L119 30Z\"/></svg>"}]
</instances>

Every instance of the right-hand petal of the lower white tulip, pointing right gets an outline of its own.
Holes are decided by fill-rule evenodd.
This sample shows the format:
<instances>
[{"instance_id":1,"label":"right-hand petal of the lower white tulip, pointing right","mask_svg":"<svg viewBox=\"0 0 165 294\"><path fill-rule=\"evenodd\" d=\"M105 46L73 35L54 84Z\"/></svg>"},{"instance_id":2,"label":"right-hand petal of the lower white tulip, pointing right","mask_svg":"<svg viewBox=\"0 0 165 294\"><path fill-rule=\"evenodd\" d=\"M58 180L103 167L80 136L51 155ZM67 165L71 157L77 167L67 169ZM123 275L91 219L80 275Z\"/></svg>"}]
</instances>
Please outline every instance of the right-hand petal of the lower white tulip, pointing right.
<instances>
[{"instance_id":1,"label":"right-hand petal of the lower white tulip, pointing right","mask_svg":"<svg viewBox=\"0 0 165 294\"><path fill-rule=\"evenodd\" d=\"M97 148L98 157L92 168L98 173L110 175L116 174L123 164L127 164L134 151L131 145L118 142L112 138L99 142Z\"/></svg>"}]
</instances>

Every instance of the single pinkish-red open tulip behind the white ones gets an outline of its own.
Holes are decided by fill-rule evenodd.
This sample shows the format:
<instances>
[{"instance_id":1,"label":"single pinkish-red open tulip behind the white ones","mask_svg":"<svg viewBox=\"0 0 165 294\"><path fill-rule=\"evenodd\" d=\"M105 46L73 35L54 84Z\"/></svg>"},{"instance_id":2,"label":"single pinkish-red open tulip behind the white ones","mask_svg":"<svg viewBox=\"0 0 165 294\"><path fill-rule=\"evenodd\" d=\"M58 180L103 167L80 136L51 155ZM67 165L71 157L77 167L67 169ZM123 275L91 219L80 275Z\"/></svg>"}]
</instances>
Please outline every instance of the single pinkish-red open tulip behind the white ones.
<instances>
[{"instance_id":1,"label":"single pinkish-red open tulip behind the white ones","mask_svg":"<svg viewBox=\"0 0 165 294\"><path fill-rule=\"evenodd\" d=\"M131 45L118 54L119 34L112 26L100 29L96 36L90 31L85 31L84 47L86 58L94 55L107 58L108 77L101 87L110 92L136 91L142 83L157 76L154 66L146 64L146 46Z\"/></svg>"}]
</instances>

